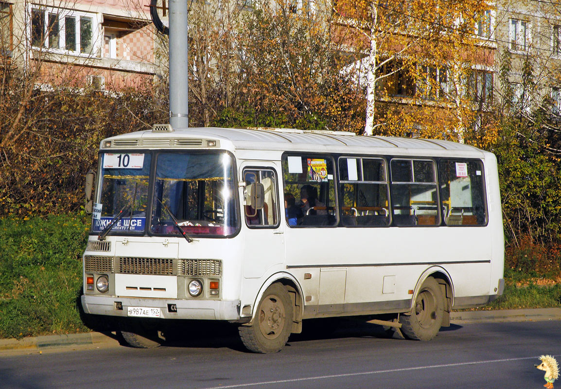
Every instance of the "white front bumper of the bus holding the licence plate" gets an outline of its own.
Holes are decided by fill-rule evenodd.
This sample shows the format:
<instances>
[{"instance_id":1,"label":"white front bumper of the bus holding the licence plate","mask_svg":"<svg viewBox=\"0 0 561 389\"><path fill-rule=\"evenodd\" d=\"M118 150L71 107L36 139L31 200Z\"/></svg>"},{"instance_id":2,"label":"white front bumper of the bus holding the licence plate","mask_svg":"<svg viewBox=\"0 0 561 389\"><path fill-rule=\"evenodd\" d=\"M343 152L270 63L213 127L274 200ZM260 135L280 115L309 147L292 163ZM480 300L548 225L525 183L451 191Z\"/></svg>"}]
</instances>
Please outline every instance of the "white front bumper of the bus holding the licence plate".
<instances>
[{"instance_id":1,"label":"white front bumper of the bus holding the licence plate","mask_svg":"<svg viewBox=\"0 0 561 389\"><path fill-rule=\"evenodd\" d=\"M166 300L82 295L85 313L127 317L128 307L159 308L161 319L240 319L240 300Z\"/></svg>"}]
</instances>

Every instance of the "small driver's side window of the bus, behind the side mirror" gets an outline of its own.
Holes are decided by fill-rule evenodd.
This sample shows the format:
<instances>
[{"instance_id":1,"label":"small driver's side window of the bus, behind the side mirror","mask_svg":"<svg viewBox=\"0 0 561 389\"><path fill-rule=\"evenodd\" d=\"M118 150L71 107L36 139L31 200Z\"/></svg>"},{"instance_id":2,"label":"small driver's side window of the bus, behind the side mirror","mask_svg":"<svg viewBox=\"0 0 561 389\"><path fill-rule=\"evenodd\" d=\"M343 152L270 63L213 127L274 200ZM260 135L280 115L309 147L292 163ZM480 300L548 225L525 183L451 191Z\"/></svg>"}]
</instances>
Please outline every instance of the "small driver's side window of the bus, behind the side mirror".
<instances>
[{"instance_id":1,"label":"small driver's side window of the bus, behind the side mirror","mask_svg":"<svg viewBox=\"0 0 561 389\"><path fill-rule=\"evenodd\" d=\"M278 226L277 177L274 171L268 169L244 170L243 180L246 185L260 182L264 187L262 209L253 209L249 204L244 206L247 226L270 228Z\"/></svg>"}]
</instances>

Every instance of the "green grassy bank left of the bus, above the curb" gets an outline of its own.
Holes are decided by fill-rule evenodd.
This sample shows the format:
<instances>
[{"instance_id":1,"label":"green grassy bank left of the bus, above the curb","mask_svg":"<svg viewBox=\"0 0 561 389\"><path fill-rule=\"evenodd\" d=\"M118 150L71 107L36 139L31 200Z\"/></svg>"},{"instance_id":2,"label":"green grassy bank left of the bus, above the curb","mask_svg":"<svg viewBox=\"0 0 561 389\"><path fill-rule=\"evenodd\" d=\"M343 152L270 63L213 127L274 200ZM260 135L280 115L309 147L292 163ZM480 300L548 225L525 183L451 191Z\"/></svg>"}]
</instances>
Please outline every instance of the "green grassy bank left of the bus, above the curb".
<instances>
[{"instance_id":1,"label":"green grassy bank left of the bus, above the curb","mask_svg":"<svg viewBox=\"0 0 561 389\"><path fill-rule=\"evenodd\" d=\"M0 219L0 338L88 330L77 308L88 230L83 213Z\"/></svg>"}]
</instances>

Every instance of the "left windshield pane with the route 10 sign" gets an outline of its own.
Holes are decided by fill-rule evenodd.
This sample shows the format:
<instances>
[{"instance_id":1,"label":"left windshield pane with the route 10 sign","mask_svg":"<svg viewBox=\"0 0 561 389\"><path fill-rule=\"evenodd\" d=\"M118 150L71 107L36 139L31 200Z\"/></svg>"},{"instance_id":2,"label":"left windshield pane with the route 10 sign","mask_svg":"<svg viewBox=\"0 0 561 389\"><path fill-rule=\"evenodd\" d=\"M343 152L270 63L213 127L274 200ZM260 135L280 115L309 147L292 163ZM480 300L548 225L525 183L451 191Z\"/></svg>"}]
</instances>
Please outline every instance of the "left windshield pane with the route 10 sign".
<instances>
[{"instance_id":1,"label":"left windshield pane with the route 10 sign","mask_svg":"<svg viewBox=\"0 0 561 389\"><path fill-rule=\"evenodd\" d=\"M144 232L151 155L103 153L100 159L102 182L91 230L101 232L114 222L112 232Z\"/></svg>"}]
</instances>

